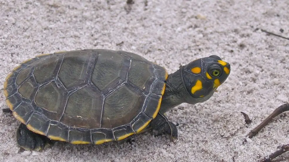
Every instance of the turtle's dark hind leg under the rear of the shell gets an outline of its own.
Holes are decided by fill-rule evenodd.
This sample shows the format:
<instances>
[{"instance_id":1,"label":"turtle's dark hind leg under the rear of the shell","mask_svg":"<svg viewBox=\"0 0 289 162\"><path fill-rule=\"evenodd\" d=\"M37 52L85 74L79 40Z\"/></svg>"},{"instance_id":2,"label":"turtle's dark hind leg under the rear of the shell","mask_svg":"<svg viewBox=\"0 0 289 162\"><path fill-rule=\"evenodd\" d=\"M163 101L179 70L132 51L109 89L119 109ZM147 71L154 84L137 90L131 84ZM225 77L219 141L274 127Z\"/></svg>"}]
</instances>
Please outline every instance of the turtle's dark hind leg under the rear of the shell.
<instances>
[{"instance_id":1,"label":"turtle's dark hind leg under the rear of the shell","mask_svg":"<svg viewBox=\"0 0 289 162\"><path fill-rule=\"evenodd\" d=\"M17 143L25 150L43 150L45 144L50 140L46 136L39 135L29 130L25 124L21 123L16 131Z\"/></svg>"}]
</instances>

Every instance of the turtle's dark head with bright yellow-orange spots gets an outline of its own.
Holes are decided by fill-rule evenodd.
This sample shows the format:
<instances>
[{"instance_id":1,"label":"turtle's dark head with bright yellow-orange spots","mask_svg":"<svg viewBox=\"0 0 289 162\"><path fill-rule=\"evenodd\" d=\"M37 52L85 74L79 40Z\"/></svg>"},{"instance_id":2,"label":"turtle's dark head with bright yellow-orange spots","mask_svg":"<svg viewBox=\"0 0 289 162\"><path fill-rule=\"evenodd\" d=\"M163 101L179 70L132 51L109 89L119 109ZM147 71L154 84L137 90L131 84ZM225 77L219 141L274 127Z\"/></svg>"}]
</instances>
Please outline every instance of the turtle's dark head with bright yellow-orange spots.
<instances>
[{"instance_id":1,"label":"turtle's dark head with bright yellow-orange spots","mask_svg":"<svg viewBox=\"0 0 289 162\"><path fill-rule=\"evenodd\" d=\"M212 55L185 65L182 70L184 85L192 103L208 100L230 74L230 64Z\"/></svg>"}]
</instances>

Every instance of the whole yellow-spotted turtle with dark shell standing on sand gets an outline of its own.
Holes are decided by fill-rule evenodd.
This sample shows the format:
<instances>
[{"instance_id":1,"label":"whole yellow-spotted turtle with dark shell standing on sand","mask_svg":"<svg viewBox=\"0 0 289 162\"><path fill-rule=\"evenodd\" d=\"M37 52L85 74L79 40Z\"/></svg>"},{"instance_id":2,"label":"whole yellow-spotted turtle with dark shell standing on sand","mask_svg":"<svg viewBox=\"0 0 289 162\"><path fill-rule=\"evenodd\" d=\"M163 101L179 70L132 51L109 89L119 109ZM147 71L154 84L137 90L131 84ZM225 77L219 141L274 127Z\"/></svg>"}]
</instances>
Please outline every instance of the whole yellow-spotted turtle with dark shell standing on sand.
<instances>
[{"instance_id":1,"label":"whole yellow-spotted turtle with dark shell standing on sand","mask_svg":"<svg viewBox=\"0 0 289 162\"><path fill-rule=\"evenodd\" d=\"M21 122L16 141L43 150L49 141L102 144L150 130L178 138L165 113L211 98L230 64L211 55L179 70L143 56L108 49L41 54L14 68L4 82L6 108Z\"/></svg>"}]
</instances>

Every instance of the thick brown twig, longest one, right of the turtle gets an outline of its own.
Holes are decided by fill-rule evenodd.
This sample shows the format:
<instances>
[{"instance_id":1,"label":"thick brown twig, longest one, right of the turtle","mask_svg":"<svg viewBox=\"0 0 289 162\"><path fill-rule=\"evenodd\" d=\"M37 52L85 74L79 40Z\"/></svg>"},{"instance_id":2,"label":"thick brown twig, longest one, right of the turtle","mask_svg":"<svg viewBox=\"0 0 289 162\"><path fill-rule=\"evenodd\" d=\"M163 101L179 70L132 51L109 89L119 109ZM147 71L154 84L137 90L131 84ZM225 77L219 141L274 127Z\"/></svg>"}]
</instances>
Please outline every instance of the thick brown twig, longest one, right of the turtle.
<instances>
[{"instance_id":1,"label":"thick brown twig, longest one, right of the turtle","mask_svg":"<svg viewBox=\"0 0 289 162\"><path fill-rule=\"evenodd\" d=\"M265 127L270 121L273 120L273 118L275 118L276 116L280 115L281 113L285 112L285 111L289 111L289 103L287 104L283 104L281 106L279 106L278 108L276 108L273 113L271 113L262 123L260 123L257 127L255 127L253 130L251 130L248 133L248 137L252 138L255 135L257 135L257 133L263 128Z\"/></svg>"}]
</instances>

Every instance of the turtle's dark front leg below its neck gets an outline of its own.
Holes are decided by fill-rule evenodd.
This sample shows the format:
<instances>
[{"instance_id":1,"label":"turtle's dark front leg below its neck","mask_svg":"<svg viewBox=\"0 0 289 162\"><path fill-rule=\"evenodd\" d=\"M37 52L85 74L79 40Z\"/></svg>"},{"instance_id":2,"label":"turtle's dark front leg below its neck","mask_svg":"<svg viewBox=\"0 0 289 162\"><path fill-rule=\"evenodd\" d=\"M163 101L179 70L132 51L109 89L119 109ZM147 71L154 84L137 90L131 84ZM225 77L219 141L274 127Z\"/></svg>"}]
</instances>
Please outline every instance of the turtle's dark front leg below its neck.
<instances>
[{"instance_id":1,"label":"turtle's dark front leg below its neck","mask_svg":"<svg viewBox=\"0 0 289 162\"><path fill-rule=\"evenodd\" d=\"M170 135L170 139L178 138L177 126L170 122L163 114L158 113L157 117L150 122L150 126L157 132L155 136Z\"/></svg>"}]
</instances>

